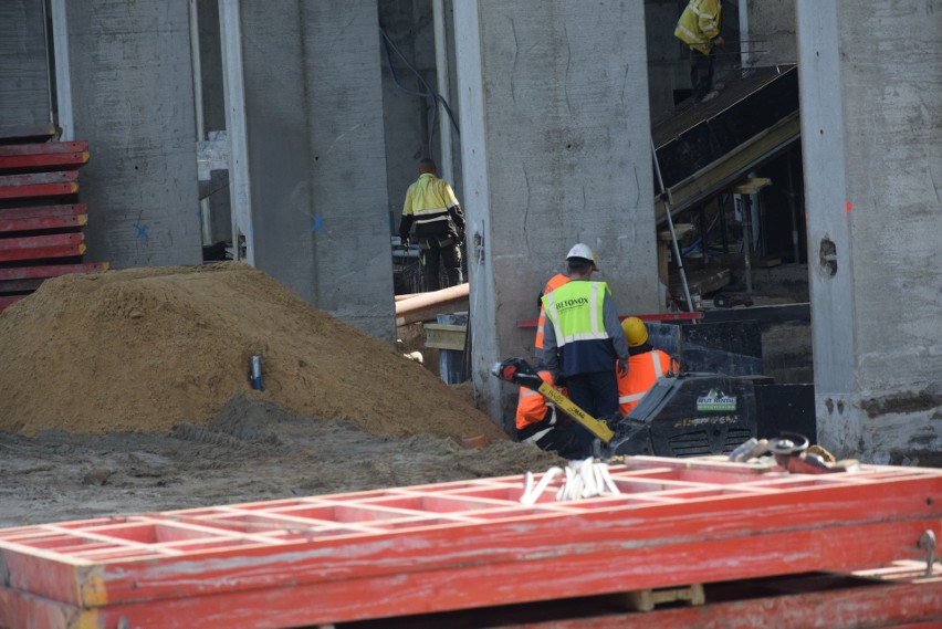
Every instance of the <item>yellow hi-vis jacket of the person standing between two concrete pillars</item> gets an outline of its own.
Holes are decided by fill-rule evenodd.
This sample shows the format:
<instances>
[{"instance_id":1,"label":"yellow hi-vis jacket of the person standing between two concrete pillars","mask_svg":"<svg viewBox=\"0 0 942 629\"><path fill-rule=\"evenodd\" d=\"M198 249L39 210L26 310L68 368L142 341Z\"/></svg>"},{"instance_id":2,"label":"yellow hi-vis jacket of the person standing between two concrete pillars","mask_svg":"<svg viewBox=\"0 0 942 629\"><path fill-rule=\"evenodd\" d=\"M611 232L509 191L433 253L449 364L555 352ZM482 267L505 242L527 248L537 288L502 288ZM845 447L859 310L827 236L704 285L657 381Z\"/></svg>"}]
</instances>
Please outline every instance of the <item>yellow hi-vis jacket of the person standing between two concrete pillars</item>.
<instances>
[{"instance_id":1,"label":"yellow hi-vis jacket of the person standing between two concrete pillars","mask_svg":"<svg viewBox=\"0 0 942 629\"><path fill-rule=\"evenodd\" d=\"M464 229L464 214L448 181L422 172L418 181L409 186L399 222L400 238L408 238L414 222L419 240L459 235L459 230Z\"/></svg>"}]
</instances>

